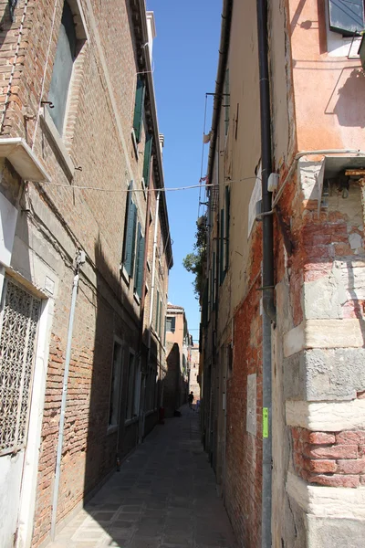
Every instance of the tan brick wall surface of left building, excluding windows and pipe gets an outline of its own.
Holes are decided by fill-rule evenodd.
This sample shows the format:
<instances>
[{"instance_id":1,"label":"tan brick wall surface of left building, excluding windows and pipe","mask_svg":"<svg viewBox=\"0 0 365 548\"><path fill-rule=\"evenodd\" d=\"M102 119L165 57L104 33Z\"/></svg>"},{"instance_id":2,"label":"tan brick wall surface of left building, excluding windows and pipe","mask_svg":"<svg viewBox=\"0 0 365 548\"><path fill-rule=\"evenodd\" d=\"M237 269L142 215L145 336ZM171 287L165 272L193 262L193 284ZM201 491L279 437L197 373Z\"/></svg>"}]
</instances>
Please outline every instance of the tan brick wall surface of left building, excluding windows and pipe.
<instances>
[{"instance_id":1,"label":"tan brick wall surface of left building, excluding windows and pipe","mask_svg":"<svg viewBox=\"0 0 365 548\"><path fill-rule=\"evenodd\" d=\"M69 4L76 13L78 3L70 0ZM25 12L26 3L19 0L12 24L8 3L0 3L3 16L0 109L5 108L1 133L26 139L52 182L24 184L17 178L13 182L12 168L5 162L1 192L8 194L6 189L12 186L10 194L19 195L18 188L22 185L21 207L26 210L19 217L16 233L23 247L21 252L14 253L12 266L34 283L31 266L24 268L31 249L47 264L57 281L36 485L35 547L49 534L73 260L78 248L86 251L87 262L80 272L73 332L58 522L113 469L117 453L122 457L138 440L138 423L125 426L124 414L129 352L131 349L138 354L140 350L141 309L133 297L133 280L128 283L120 277L127 194L118 191L126 190L130 180L135 188L141 189L144 129L137 153L131 138L137 60L141 51L134 37L129 2L115 0L105 4L81 0L79 5L87 39L78 42L62 138L69 161L80 168L70 174L45 122L38 117L41 100L48 97L63 3L29 0ZM79 14L77 19L80 25ZM110 21L118 24L110 25ZM103 191L77 190L76 186ZM146 196L136 192L133 200L144 228ZM153 200L151 211L154 216ZM162 208L157 219L159 242L161 213ZM151 238L153 231L148 238L150 258ZM165 308L168 267L164 255L162 268L163 279L157 271L157 280ZM151 274L147 283L151 291ZM149 294L144 318L149 312L148 300ZM122 342L119 447L117 432L108 433L114 336ZM142 355L145 359L145 353ZM161 344L154 356L159 364L164 363ZM154 385L151 389L154 390ZM150 430L156 420L156 416L151 416L146 428Z\"/></svg>"}]
</instances>

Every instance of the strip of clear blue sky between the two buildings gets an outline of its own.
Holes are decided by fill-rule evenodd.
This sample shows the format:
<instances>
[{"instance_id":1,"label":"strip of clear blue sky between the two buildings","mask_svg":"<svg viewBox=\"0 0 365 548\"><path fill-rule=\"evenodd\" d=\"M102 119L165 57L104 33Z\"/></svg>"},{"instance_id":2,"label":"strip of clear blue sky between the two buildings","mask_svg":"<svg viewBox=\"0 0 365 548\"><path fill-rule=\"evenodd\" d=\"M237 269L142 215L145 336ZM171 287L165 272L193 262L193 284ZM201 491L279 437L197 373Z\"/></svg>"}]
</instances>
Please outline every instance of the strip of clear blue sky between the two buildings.
<instances>
[{"instance_id":1,"label":"strip of clear blue sky between the two buildings","mask_svg":"<svg viewBox=\"0 0 365 548\"><path fill-rule=\"evenodd\" d=\"M165 136L163 166L167 187L199 184L205 93L214 92L221 28L222 0L146 0L154 12L154 85L160 132ZM206 132L212 121L208 98ZM209 144L204 146L205 160ZM203 175L206 171L204 162ZM193 251L199 190L167 193L173 268L169 300L183 306L194 342L199 339L199 303L193 275L183 258ZM202 209L201 209L202 211Z\"/></svg>"}]
</instances>

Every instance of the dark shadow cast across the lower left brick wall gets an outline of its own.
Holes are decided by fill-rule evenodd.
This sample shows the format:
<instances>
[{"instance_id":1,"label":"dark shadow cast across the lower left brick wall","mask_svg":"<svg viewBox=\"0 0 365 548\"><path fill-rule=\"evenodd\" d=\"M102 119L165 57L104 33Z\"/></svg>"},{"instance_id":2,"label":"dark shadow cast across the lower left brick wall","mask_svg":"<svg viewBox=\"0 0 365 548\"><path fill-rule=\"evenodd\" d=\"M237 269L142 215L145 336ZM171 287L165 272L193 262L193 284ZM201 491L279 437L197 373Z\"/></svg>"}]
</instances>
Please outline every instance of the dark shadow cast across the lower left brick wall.
<instances>
[{"instance_id":1,"label":"dark shadow cast across the lower left brick wall","mask_svg":"<svg viewBox=\"0 0 365 548\"><path fill-rule=\"evenodd\" d=\"M157 422L149 417L143 426L139 423L140 404L148 406L148 394L142 390L150 375L147 367L147 346L143 341L139 315L133 310L127 297L126 287L120 282L105 258L100 242L95 247L97 270L97 294L95 337L91 379L89 387L88 438L85 447L84 497L108 476L139 441L139 428L148 433ZM81 308L81 307L80 307ZM85 319L86 320L86 319ZM82 321L82 318L80 319ZM88 341L88 326L85 325L83 341ZM145 335L146 333L143 333ZM88 348L80 349L83 353ZM157 355L156 344L151 339L151 355ZM82 364L80 364L82 367ZM154 390L161 387L154 383ZM141 402L143 398L143 402ZM158 401L158 394L153 398ZM85 401L88 406L88 402ZM152 424L153 423L153 424Z\"/></svg>"}]
</instances>

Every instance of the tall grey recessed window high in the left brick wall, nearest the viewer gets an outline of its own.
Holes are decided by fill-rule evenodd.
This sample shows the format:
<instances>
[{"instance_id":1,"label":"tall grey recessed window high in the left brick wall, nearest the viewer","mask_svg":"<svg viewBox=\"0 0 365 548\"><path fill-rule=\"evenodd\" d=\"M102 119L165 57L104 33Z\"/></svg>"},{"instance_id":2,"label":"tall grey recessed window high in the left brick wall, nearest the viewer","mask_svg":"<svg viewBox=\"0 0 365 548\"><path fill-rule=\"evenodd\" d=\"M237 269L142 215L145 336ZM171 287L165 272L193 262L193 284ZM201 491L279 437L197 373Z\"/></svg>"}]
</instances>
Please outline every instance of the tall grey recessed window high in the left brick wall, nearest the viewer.
<instances>
[{"instance_id":1,"label":"tall grey recessed window high in the left brick wall, nearest the viewer","mask_svg":"<svg viewBox=\"0 0 365 548\"><path fill-rule=\"evenodd\" d=\"M49 114L54 121L60 135L63 133L66 106L68 102L68 88L72 75L72 68L76 58L76 30L74 16L68 3L65 2L62 12L61 26L57 41L55 63L53 65L51 85L48 100L54 108Z\"/></svg>"}]
</instances>

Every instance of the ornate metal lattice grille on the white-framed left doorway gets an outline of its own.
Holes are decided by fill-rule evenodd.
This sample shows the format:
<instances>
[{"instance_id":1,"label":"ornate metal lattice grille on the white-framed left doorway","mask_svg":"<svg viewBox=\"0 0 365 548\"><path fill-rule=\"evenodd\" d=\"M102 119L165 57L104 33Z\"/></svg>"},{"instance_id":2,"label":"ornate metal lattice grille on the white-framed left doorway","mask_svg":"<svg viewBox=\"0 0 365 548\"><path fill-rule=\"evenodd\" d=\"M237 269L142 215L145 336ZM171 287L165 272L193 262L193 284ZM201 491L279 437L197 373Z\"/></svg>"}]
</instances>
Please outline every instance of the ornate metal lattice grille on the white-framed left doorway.
<instances>
[{"instance_id":1,"label":"ornate metal lattice grille on the white-framed left doorway","mask_svg":"<svg viewBox=\"0 0 365 548\"><path fill-rule=\"evenodd\" d=\"M26 427L41 301L5 279L0 335L0 455L26 443Z\"/></svg>"}]
</instances>

